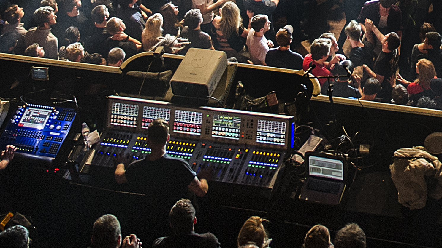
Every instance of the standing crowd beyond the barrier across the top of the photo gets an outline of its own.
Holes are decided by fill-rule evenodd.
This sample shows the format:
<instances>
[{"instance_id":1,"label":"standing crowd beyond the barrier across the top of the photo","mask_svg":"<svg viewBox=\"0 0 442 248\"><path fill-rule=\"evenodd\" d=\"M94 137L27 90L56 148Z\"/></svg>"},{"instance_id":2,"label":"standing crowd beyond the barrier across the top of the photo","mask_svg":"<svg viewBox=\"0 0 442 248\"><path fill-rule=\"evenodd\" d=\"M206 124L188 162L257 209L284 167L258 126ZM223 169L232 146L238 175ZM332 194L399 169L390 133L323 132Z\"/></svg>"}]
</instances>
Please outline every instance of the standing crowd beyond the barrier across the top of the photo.
<instances>
[{"instance_id":1,"label":"standing crowd beyond the barrier across the top of the photo","mask_svg":"<svg viewBox=\"0 0 442 248\"><path fill-rule=\"evenodd\" d=\"M304 71L313 65L315 76L351 73L347 81L332 80L334 89L320 78L322 94L442 109L440 27L423 23L428 0L343 1L347 24L339 40L331 33L311 37L305 57L293 51L299 21L274 30L279 0L92 0L90 9L81 0L58 1L42 0L29 30L23 8L9 6L1 15L0 52L120 66L158 46L181 55L191 47L217 49L243 63ZM433 12L439 8L433 4Z\"/></svg>"}]
</instances>

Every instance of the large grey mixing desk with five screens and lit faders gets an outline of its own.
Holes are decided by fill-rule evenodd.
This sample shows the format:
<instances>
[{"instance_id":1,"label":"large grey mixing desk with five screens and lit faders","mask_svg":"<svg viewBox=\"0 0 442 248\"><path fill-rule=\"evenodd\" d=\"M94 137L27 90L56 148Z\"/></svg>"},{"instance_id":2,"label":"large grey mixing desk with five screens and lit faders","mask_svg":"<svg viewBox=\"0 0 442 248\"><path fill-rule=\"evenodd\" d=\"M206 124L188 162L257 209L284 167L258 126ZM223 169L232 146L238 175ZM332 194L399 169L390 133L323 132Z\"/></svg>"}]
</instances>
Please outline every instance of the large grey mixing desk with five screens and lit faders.
<instances>
[{"instance_id":1,"label":"large grey mixing desk with five screens and lit faders","mask_svg":"<svg viewBox=\"0 0 442 248\"><path fill-rule=\"evenodd\" d=\"M114 168L122 151L135 159L149 154L146 130L157 118L167 120L167 153L187 160L192 169L214 169L213 181L272 188L286 151L294 145L293 116L212 107L184 108L168 102L109 97L101 143L80 173Z\"/></svg>"}]
</instances>

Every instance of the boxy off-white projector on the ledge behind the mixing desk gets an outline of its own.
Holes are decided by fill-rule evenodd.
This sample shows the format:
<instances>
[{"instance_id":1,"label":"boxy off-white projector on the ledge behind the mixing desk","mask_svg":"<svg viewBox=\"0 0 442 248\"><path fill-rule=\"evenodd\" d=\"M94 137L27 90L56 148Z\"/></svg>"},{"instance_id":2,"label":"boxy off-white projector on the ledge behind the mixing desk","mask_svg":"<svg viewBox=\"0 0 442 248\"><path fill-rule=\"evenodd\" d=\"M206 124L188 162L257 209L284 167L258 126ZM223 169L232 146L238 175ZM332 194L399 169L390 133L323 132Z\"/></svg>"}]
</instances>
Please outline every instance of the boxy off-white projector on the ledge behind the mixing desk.
<instances>
[{"instance_id":1,"label":"boxy off-white projector on the ledge behind the mixing desk","mask_svg":"<svg viewBox=\"0 0 442 248\"><path fill-rule=\"evenodd\" d=\"M225 68L225 52L190 48L170 80L172 93L187 97L212 96Z\"/></svg>"}]
</instances>

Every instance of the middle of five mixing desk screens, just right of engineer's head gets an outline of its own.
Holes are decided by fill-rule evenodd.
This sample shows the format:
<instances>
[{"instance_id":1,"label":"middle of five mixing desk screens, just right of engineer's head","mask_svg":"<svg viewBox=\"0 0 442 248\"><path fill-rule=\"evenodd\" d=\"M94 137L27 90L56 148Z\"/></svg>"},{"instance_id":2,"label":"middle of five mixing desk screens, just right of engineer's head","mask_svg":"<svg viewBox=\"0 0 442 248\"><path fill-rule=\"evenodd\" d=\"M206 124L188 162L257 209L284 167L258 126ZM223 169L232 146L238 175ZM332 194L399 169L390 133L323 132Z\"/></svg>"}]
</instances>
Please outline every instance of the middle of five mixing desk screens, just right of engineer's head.
<instances>
[{"instance_id":1,"label":"middle of five mixing desk screens, just right of engineer's head","mask_svg":"<svg viewBox=\"0 0 442 248\"><path fill-rule=\"evenodd\" d=\"M175 110L173 132L190 135L201 135L202 113L194 111Z\"/></svg>"}]
</instances>

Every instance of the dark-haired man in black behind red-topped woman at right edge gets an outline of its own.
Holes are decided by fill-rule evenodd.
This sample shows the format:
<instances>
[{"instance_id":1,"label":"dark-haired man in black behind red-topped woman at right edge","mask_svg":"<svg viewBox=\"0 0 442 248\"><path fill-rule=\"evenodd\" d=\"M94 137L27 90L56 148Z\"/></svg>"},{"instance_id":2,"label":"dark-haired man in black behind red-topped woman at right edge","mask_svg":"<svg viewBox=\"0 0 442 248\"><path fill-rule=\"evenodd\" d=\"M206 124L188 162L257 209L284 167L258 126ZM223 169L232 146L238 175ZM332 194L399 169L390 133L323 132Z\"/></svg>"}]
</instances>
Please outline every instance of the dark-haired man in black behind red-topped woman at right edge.
<instances>
[{"instance_id":1,"label":"dark-haired man in black behind red-topped woman at right edge","mask_svg":"<svg viewBox=\"0 0 442 248\"><path fill-rule=\"evenodd\" d=\"M425 39L423 41L424 49L427 51L427 53L421 53L415 56L414 60L412 61L410 68L410 79L416 78L416 72L415 72L415 66L417 62L420 59L427 59L430 60L431 63L434 65L434 69L436 70L436 75L439 77L442 75L442 53L440 46L442 44L442 37L440 34L436 32L428 32L425 34Z\"/></svg>"}]
</instances>

